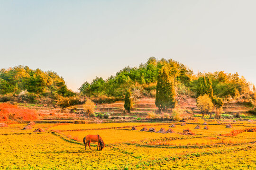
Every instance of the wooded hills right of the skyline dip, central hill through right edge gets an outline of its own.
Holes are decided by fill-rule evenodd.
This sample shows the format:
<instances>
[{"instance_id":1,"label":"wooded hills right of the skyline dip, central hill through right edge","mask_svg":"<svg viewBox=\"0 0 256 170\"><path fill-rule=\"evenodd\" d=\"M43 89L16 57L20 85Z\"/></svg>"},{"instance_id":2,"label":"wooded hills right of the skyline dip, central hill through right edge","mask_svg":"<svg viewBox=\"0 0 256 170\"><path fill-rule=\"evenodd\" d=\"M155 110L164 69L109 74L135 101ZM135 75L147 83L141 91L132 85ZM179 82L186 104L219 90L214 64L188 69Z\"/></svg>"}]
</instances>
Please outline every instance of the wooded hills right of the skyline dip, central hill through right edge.
<instances>
[{"instance_id":1,"label":"wooded hills right of the skyline dip, central hill through right edge","mask_svg":"<svg viewBox=\"0 0 256 170\"><path fill-rule=\"evenodd\" d=\"M107 80L96 77L91 83L84 82L79 88L80 93L90 97L121 97L128 89L140 89L145 96L155 97L155 88L159 70L167 67L169 76L173 77L178 94L188 94L197 97L198 80L205 76L212 83L213 94L223 99L232 97L251 98L250 84L238 73L227 74L223 71L214 73L198 73L173 59L157 60L150 57L145 64L138 68L126 67L110 76Z\"/></svg>"}]
</instances>

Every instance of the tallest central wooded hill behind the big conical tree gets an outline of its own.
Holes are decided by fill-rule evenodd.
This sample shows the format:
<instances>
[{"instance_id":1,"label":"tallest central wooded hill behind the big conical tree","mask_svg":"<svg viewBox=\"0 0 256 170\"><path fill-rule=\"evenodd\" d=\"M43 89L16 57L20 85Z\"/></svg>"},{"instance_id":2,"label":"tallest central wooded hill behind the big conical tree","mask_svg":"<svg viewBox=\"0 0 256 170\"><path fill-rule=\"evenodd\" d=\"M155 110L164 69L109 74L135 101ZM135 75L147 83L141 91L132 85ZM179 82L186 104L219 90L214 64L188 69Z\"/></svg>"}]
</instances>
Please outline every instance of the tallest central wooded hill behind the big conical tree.
<instances>
[{"instance_id":1,"label":"tallest central wooded hill behind the big conical tree","mask_svg":"<svg viewBox=\"0 0 256 170\"><path fill-rule=\"evenodd\" d=\"M145 64L140 64L138 68L126 67L116 73L115 76L108 77L107 80L96 77L91 84L85 82L79 91L90 97L101 95L124 97L127 89L138 88L144 89L142 90L143 95L154 96L158 72L163 65L168 65L170 76L174 77L176 83L190 84L192 71L183 64L172 59L156 60L154 57L150 57Z\"/></svg>"}]
</instances>

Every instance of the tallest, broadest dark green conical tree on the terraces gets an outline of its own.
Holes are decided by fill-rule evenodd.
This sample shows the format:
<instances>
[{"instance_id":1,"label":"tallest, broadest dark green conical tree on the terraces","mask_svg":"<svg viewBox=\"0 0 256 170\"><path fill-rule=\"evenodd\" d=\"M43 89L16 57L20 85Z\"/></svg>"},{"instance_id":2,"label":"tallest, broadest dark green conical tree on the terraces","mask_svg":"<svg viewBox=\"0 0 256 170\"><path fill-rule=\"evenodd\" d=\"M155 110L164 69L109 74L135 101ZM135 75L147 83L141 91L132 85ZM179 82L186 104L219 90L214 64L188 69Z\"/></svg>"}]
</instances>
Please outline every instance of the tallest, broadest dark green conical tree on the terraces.
<instances>
[{"instance_id":1,"label":"tallest, broadest dark green conical tree on the terraces","mask_svg":"<svg viewBox=\"0 0 256 170\"><path fill-rule=\"evenodd\" d=\"M174 90L174 78L169 74L169 69L163 66L158 73L156 84L156 96L155 105L161 112L165 112L176 105L175 90Z\"/></svg>"}]
</instances>

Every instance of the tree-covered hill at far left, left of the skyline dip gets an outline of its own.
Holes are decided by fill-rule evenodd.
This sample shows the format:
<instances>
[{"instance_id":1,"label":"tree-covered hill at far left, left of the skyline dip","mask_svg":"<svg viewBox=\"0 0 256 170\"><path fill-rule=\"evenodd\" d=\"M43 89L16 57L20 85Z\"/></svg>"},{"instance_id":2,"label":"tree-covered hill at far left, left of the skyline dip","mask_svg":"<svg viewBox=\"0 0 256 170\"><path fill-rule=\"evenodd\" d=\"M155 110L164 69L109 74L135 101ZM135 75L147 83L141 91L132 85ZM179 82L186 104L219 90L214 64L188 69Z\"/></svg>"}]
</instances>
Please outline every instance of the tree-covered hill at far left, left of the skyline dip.
<instances>
[{"instance_id":1,"label":"tree-covered hill at far left, left of the skyline dip","mask_svg":"<svg viewBox=\"0 0 256 170\"><path fill-rule=\"evenodd\" d=\"M22 91L26 91L26 95L20 95ZM23 102L38 102L43 96L56 99L57 95L70 97L75 94L67 89L64 79L55 72L44 72L38 68L32 70L27 66L0 70L0 94L8 93L12 93L19 102L21 99Z\"/></svg>"}]
</instances>

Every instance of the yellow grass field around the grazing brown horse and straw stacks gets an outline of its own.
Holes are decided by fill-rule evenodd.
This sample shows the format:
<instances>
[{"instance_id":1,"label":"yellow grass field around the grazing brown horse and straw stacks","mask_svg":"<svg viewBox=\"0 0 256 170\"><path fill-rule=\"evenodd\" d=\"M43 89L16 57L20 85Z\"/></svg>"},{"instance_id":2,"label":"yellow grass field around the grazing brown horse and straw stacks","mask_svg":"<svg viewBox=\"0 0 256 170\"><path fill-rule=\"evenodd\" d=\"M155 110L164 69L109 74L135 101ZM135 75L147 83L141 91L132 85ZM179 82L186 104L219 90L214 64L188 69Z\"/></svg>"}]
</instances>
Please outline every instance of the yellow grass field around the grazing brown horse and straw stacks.
<instances>
[{"instance_id":1,"label":"yellow grass field around the grazing brown horse and straw stacks","mask_svg":"<svg viewBox=\"0 0 256 170\"><path fill-rule=\"evenodd\" d=\"M255 128L247 122L234 123L232 128L209 122L202 123L102 123L102 124L26 124L0 128L0 169L36 170L255 170L256 132L236 136L219 136L231 131ZM161 125L160 125L161 124ZM200 125L201 129L194 129ZM131 127L137 130L131 131ZM139 132L141 128L172 128L175 133ZM33 132L38 127L45 132ZM189 128L195 135L182 135ZM92 130L95 129L95 130ZM84 150L82 138L99 134L106 147ZM74 140L75 139L75 140ZM87 147L88 148L88 147Z\"/></svg>"}]
</instances>

